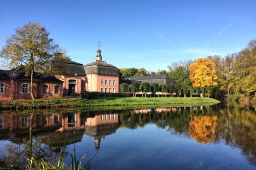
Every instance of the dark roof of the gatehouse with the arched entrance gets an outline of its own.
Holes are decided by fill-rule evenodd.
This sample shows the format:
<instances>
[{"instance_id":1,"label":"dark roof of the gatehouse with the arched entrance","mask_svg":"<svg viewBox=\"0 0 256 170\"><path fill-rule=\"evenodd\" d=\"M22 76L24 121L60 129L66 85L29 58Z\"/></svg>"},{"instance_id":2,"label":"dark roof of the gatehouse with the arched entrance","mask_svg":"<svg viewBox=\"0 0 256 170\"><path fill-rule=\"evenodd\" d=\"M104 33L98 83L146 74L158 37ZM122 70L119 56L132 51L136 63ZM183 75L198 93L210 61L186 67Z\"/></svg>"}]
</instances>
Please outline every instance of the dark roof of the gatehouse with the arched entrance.
<instances>
[{"instance_id":1,"label":"dark roof of the gatehouse with the arched entrance","mask_svg":"<svg viewBox=\"0 0 256 170\"><path fill-rule=\"evenodd\" d=\"M65 76L86 76L82 64L74 61L66 61L67 69L63 72Z\"/></svg>"}]
</instances>

